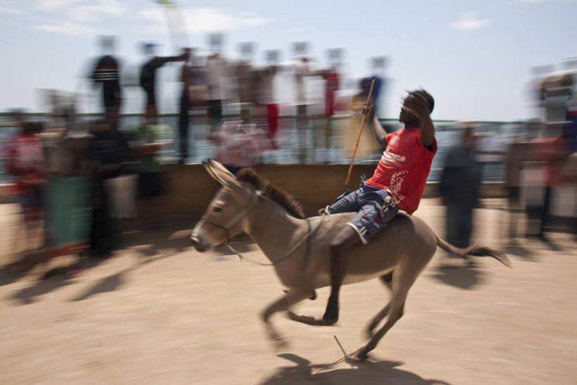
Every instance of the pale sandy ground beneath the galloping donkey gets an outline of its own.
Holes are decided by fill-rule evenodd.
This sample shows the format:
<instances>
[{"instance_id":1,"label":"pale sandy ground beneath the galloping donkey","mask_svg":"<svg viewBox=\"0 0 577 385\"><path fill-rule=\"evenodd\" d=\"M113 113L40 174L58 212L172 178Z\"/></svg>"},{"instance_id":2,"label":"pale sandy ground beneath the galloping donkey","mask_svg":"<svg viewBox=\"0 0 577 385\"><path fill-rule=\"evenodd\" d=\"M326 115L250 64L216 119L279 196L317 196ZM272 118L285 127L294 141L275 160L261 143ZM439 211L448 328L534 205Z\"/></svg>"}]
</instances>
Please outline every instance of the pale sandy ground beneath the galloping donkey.
<instances>
[{"instance_id":1,"label":"pale sandy ground beneath the galloping donkey","mask_svg":"<svg viewBox=\"0 0 577 385\"><path fill-rule=\"evenodd\" d=\"M506 215L488 203L474 239L507 248L513 269L485 258L464 267L439 251L368 362L327 366L343 357L333 336L347 353L364 343L366 322L387 301L380 282L342 289L336 327L276 315L290 346L275 351L258 316L282 294L271 268L224 248L197 253L190 230L126 234L123 250L83 260L89 269L78 277L38 282L37 270L2 268L0 384L577 384L576 243L568 234L552 234L552 244L502 241ZM1 210L5 267L17 215ZM443 233L435 201L416 215ZM248 241L236 246L264 261ZM328 291L318 294L299 313L322 315Z\"/></svg>"}]
</instances>

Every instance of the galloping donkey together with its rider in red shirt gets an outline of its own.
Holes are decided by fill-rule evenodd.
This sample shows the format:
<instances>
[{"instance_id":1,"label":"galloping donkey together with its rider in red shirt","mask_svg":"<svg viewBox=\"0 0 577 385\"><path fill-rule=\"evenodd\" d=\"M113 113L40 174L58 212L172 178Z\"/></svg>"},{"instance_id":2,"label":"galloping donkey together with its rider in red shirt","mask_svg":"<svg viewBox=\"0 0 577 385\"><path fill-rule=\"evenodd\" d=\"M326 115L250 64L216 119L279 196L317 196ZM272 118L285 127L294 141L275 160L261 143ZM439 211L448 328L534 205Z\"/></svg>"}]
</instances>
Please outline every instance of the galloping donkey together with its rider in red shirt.
<instances>
[{"instance_id":1,"label":"galloping donkey together with its rider in red shirt","mask_svg":"<svg viewBox=\"0 0 577 385\"><path fill-rule=\"evenodd\" d=\"M409 216L418 208L437 151L430 119L434 107L435 99L427 91L409 92L399 114L404 128L387 134L373 108L367 106L364 113L372 118L373 132L385 152L373 177L321 210L321 217L304 219L294 199L252 169L242 170L237 178L219 163L205 163L223 189L194 227L192 242L203 251L224 241L228 244L231 236L244 231L259 244L289 289L263 313L273 339L279 340L268 322L273 313L289 310L291 319L298 322L334 324L339 317L340 286L380 277L392 298L368 325L371 339L359 350L359 358L366 358L402 316L407 293L437 246L461 255L490 255L509 266L503 253L482 246L455 248L422 220ZM398 215L399 209L409 215ZM316 298L315 289L329 285L322 320L290 312L304 298ZM387 322L373 334L387 315Z\"/></svg>"}]
</instances>

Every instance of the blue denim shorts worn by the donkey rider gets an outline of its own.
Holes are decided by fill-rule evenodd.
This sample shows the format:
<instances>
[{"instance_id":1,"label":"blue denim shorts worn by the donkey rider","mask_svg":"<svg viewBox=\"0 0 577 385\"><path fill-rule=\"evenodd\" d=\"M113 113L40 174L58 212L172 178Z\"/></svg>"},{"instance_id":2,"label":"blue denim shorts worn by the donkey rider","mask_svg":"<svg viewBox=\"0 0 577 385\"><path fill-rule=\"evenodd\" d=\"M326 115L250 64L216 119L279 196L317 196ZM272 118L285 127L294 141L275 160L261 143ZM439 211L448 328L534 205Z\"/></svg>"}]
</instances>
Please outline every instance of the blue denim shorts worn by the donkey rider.
<instances>
[{"instance_id":1,"label":"blue denim shorts worn by the donkey rider","mask_svg":"<svg viewBox=\"0 0 577 385\"><path fill-rule=\"evenodd\" d=\"M347 225L366 244L368 239L397 215L399 208L388 191L361 182L359 189L345 192L326 211L329 214L356 212L356 217Z\"/></svg>"}]
</instances>

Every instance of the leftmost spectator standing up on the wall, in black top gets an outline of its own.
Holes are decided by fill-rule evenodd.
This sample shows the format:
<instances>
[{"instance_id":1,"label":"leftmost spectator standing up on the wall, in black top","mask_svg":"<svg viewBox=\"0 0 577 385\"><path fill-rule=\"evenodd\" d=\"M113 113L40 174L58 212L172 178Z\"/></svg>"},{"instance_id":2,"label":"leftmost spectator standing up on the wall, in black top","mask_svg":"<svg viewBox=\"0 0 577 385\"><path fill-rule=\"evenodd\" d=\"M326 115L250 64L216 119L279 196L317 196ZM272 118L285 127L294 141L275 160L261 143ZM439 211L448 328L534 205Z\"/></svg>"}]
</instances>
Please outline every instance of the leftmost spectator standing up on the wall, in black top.
<instances>
[{"instance_id":1,"label":"leftmost spectator standing up on the wall, in black top","mask_svg":"<svg viewBox=\"0 0 577 385\"><path fill-rule=\"evenodd\" d=\"M104 112L110 110L118 112L122 104L122 91L120 89L120 66L116 58L112 56L114 38L111 36L102 37L101 45L104 56L98 59L90 78L94 88L101 84Z\"/></svg>"}]
</instances>

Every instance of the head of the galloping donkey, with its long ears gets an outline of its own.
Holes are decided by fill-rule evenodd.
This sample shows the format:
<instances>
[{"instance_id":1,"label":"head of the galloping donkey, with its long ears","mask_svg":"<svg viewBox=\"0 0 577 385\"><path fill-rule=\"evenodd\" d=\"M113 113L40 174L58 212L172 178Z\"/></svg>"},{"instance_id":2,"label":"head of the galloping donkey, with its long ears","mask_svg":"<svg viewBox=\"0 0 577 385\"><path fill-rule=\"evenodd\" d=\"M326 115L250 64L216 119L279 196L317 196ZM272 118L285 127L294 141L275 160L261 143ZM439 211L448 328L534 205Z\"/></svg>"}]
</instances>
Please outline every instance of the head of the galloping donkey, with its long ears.
<instances>
[{"instance_id":1,"label":"head of the galloping donkey, with its long ears","mask_svg":"<svg viewBox=\"0 0 577 385\"><path fill-rule=\"evenodd\" d=\"M242 232L244 218L261 196L260 191L240 182L216 160L211 159L202 164L223 187L218 190L190 234L192 244L200 252L228 242Z\"/></svg>"}]
</instances>

